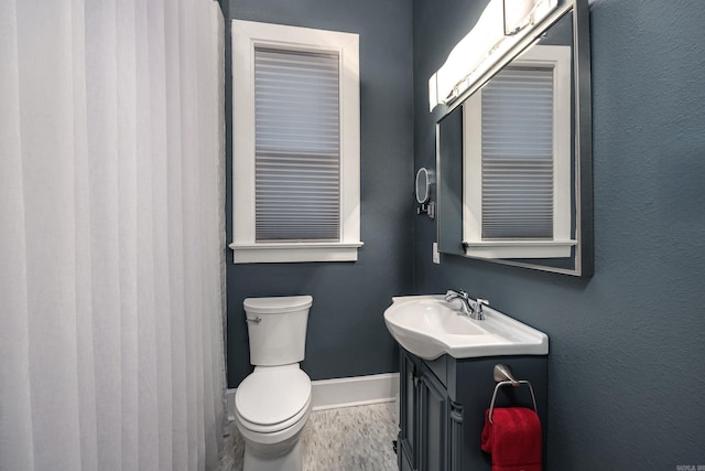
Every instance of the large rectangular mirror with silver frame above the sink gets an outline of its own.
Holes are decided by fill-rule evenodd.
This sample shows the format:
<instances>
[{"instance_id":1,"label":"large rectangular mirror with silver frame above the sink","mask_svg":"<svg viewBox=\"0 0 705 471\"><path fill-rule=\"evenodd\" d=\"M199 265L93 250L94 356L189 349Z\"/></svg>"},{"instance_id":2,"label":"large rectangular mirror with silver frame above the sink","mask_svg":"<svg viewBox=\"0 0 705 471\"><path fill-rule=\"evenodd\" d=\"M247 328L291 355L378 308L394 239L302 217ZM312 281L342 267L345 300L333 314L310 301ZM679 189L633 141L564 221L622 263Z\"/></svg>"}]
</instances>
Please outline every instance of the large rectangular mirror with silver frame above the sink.
<instances>
[{"instance_id":1,"label":"large rectangular mirror with silver frame above the sink","mask_svg":"<svg viewBox=\"0 0 705 471\"><path fill-rule=\"evenodd\" d=\"M518 45L490 67L487 76L448 106L437 122L436 218L441 253L573 276L593 274L587 15L587 1L562 4L543 28L531 34L528 46ZM552 73L552 95L547 98L552 118L547 119L547 128L540 128L540 121L546 120L539 117L539 111L521 105L517 109L517 104L528 96L533 101L540 95L534 92L539 88L527 88L522 83L523 96L507 98L501 94L506 92L502 84L512 83L512 77L524 71L531 71L530 82L538 82L534 72L543 65L535 64L549 63L544 60L546 53L555 51L567 55L563 54L563 65L551 65L550 69L562 68L565 74L557 78L561 74ZM494 96L499 98L492 101ZM500 107L505 107L505 115L492 120L491 116L499 116L496 110ZM494 127L496 122L501 124L499 129ZM535 137L546 133L545 142L538 142ZM549 148L547 163L545 158L543 163L532 163L538 153L534 149L541 146ZM498 168L509 170L501 173ZM536 176L540 168L549 169L549 173ZM549 182L546 188L538 189L540 180ZM541 197L534 196L539 193ZM530 200L543 203L527 210ZM539 227L542 224L544 227ZM513 226L521 226L528 234Z\"/></svg>"}]
</instances>

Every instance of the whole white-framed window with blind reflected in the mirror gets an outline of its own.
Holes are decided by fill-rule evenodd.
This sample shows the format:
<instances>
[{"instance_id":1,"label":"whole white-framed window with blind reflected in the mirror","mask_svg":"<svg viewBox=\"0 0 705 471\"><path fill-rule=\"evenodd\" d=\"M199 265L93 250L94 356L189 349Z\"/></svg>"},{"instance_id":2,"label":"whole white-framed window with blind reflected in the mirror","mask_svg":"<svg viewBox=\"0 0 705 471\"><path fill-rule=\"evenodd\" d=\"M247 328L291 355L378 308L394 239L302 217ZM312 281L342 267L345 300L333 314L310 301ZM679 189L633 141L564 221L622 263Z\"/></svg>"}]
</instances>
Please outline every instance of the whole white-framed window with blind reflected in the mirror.
<instances>
[{"instance_id":1,"label":"whole white-framed window with blind reflected in the mirror","mask_svg":"<svg viewBox=\"0 0 705 471\"><path fill-rule=\"evenodd\" d=\"M570 257L571 49L531 47L464 104L464 246Z\"/></svg>"}]
</instances>

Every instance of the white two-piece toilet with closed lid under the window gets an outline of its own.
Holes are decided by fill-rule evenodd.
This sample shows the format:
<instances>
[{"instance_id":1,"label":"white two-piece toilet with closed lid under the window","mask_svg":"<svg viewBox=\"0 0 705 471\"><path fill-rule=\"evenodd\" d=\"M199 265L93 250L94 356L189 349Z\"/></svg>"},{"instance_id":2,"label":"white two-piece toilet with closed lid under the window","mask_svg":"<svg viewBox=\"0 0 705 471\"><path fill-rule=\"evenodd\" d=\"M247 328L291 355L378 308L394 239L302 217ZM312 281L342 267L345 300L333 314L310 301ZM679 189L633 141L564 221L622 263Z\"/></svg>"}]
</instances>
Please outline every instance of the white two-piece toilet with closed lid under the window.
<instances>
[{"instance_id":1,"label":"white two-piece toilet with closed lid under the window","mask_svg":"<svg viewBox=\"0 0 705 471\"><path fill-rule=\"evenodd\" d=\"M245 439L243 471L301 471L300 436L311 414L304 360L311 296L243 302L254 371L235 394L235 421Z\"/></svg>"}]
</instances>

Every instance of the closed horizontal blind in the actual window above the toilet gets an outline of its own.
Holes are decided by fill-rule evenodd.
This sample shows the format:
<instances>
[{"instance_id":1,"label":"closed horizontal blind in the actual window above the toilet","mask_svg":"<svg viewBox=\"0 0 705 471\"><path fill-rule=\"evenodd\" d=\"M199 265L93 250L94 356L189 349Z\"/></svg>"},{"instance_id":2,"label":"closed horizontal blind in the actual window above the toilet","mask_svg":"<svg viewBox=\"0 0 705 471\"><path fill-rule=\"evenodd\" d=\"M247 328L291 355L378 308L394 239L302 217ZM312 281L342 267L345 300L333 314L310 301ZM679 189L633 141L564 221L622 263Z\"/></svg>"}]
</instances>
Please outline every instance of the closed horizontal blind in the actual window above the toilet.
<instances>
[{"instance_id":1,"label":"closed horizontal blind in the actual window above the toilet","mask_svg":"<svg viewBox=\"0 0 705 471\"><path fill-rule=\"evenodd\" d=\"M254 49L256 239L339 240L338 53Z\"/></svg>"}]
</instances>

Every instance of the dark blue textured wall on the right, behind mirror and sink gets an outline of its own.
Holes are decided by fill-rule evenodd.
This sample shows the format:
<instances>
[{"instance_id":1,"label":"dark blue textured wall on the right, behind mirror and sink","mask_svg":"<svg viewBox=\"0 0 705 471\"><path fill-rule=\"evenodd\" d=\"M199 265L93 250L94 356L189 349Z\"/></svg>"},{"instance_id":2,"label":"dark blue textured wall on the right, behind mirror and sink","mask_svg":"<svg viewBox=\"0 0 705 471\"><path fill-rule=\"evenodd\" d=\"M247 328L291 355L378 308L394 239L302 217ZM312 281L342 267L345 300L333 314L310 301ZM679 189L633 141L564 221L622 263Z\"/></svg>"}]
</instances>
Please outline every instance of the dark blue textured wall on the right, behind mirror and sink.
<instances>
[{"instance_id":1,"label":"dark blue textured wall on the right, behind mirror and sink","mask_svg":"<svg viewBox=\"0 0 705 471\"><path fill-rule=\"evenodd\" d=\"M414 0L415 165L432 165L426 81L477 14ZM467 289L546 332L547 469L705 464L705 8L590 2L595 276L442 256L415 221L415 290Z\"/></svg>"}]
</instances>

